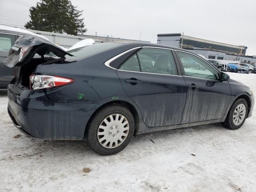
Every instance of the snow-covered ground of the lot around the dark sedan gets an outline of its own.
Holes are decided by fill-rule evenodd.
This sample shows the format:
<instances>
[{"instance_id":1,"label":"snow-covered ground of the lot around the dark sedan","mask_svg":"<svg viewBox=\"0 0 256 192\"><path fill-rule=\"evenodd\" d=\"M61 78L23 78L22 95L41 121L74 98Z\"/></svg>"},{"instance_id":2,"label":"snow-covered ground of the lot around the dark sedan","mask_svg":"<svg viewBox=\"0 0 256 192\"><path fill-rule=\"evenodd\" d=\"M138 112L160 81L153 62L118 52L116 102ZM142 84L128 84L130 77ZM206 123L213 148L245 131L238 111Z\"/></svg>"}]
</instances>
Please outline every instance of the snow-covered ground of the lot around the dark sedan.
<instances>
[{"instance_id":1,"label":"snow-covered ground of the lot around the dark sedan","mask_svg":"<svg viewBox=\"0 0 256 192\"><path fill-rule=\"evenodd\" d=\"M256 74L228 74L256 93ZM83 142L28 138L12 125L7 100L0 90L1 192L256 191L256 108L238 130L210 124L143 134L100 156Z\"/></svg>"}]
</instances>

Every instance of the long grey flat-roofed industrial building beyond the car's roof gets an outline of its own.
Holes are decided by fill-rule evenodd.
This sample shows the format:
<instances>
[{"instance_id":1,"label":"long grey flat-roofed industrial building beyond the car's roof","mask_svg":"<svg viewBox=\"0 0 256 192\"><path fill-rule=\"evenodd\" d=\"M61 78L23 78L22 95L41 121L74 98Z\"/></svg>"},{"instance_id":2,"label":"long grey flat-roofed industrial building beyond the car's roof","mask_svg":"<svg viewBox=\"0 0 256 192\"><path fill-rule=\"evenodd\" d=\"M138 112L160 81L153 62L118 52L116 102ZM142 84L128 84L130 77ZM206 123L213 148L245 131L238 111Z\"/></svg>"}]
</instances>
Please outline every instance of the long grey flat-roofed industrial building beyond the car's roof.
<instances>
[{"instance_id":1,"label":"long grey flat-roofed industrial building beyond the car's roof","mask_svg":"<svg viewBox=\"0 0 256 192\"><path fill-rule=\"evenodd\" d=\"M244 63L255 63L256 56L246 56L246 46L236 46L220 43L190 36L183 36L180 33L158 34L157 44L181 47L196 54L201 54L209 59L238 60Z\"/></svg>"}]
</instances>

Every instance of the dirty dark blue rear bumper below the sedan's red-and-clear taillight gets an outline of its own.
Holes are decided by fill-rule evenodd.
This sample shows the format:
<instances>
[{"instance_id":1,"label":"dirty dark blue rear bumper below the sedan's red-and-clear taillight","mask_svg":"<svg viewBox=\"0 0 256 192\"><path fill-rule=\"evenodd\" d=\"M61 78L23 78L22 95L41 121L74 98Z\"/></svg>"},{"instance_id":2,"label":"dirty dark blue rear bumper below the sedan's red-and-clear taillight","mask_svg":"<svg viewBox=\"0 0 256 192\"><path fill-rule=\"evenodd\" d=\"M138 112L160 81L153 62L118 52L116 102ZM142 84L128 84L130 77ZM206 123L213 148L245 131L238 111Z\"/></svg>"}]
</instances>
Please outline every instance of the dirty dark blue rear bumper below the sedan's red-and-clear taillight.
<instances>
[{"instance_id":1,"label":"dirty dark blue rear bumper below the sedan's red-and-clear taillight","mask_svg":"<svg viewBox=\"0 0 256 192\"><path fill-rule=\"evenodd\" d=\"M51 140L82 140L95 104L50 102L44 91L8 88L8 113L14 125L27 135Z\"/></svg>"}]
</instances>

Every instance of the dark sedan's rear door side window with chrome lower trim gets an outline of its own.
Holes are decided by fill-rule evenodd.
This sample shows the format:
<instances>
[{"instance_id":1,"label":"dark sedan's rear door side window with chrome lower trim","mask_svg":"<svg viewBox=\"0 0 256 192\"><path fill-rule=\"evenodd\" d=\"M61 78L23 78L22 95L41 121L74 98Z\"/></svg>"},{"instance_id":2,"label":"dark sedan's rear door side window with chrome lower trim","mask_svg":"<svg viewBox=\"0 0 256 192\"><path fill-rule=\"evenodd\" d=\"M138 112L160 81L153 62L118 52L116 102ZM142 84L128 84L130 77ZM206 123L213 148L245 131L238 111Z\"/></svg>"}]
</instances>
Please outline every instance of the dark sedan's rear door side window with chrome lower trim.
<instances>
[{"instance_id":1,"label":"dark sedan's rear door side window with chrome lower trim","mask_svg":"<svg viewBox=\"0 0 256 192\"><path fill-rule=\"evenodd\" d=\"M142 48L124 62L119 69L154 74L178 74L172 52L159 48Z\"/></svg>"}]
</instances>

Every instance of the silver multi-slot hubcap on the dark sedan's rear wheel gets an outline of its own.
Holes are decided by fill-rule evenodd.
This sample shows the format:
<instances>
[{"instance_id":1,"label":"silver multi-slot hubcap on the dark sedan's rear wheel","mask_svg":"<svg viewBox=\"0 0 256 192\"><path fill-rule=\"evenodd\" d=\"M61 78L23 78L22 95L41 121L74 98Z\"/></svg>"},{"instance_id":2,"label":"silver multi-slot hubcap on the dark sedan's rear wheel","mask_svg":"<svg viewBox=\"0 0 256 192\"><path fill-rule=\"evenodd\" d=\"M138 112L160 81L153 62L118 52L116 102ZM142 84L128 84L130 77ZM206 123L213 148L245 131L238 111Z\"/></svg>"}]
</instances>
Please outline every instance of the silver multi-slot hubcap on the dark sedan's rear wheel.
<instances>
[{"instance_id":1,"label":"silver multi-slot hubcap on the dark sedan's rear wheel","mask_svg":"<svg viewBox=\"0 0 256 192\"><path fill-rule=\"evenodd\" d=\"M116 148L127 138L129 122L121 114L111 114L98 127L98 141L105 148Z\"/></svg>"}]
</instances>

